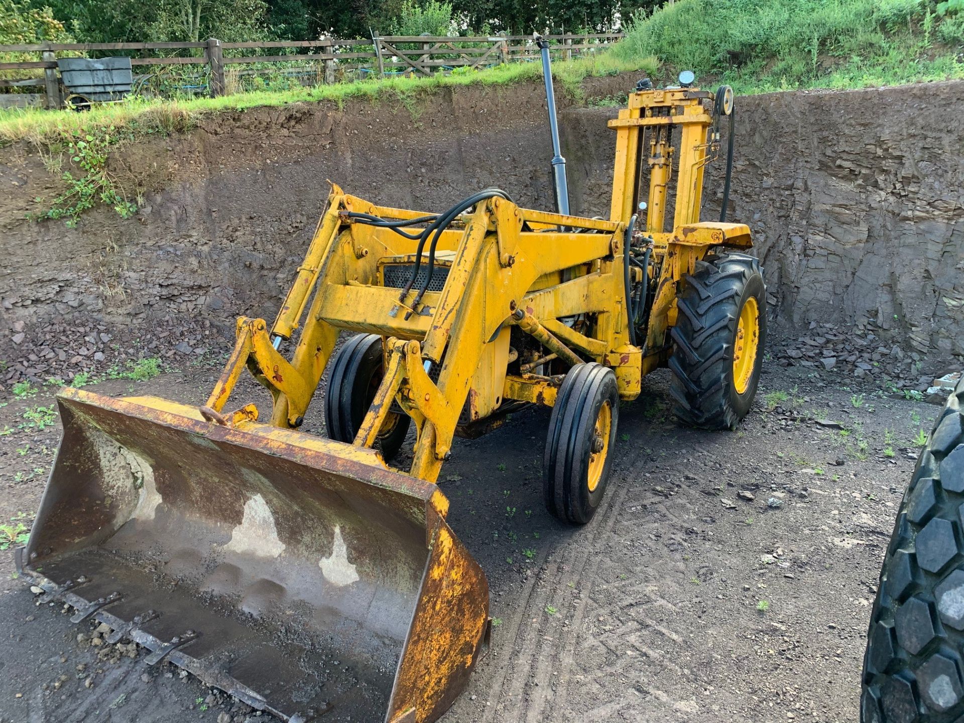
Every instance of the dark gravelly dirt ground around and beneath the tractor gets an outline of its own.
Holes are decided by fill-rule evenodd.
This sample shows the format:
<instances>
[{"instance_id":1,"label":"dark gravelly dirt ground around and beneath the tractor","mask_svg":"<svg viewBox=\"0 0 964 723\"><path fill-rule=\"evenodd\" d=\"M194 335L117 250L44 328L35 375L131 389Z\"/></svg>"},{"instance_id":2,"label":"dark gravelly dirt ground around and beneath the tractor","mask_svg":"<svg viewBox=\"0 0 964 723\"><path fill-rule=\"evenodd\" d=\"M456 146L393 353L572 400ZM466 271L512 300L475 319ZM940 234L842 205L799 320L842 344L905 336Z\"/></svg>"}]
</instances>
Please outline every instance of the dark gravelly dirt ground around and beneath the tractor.
<instances>
[{"instance_id":1,"label":"dark gravelly dirt ground around and beneath the tractor","mask_svg":"<svg viewBox=\"0 0 964 723\"><path fill-rule=\"evenodd\" d=\"M217 362L91 388L197 403ZM31 521L52 462L59 423L40 409L52 391L0 400L0 520L12 533ZM879 562L914 438L939 408L771 364L739 430L707 433L675 424L664 371L643 391L621 409L609 489L585 527L543 507L546 412L456 442L442 490L489 577L495 628L442 720L857 720ZM306 429L322 432L318 401ZM258 719L143 652L98 659L77 640L90 626L36 605L10 549L0 556L0 720Z\"/></svg>"}]
</instances>

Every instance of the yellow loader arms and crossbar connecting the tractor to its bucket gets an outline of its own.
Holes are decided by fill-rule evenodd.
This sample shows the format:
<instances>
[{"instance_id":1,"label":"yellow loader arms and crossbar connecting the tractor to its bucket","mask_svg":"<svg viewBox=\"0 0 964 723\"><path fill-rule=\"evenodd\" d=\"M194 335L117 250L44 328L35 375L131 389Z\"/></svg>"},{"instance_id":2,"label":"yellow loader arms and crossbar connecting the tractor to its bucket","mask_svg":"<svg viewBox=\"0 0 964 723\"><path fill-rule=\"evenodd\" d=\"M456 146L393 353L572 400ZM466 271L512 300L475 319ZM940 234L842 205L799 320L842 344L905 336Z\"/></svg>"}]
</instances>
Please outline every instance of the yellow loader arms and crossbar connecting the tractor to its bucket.
<instances>
[{"instance_id":1,"label":"yellow loader arms and crossbar connecting the tractor to its bucket","mask_svg":"<svg viewBox=\"0 0 964 723\"><path fill-rule=\"evenodd\" d=\"M234 353L205 405L221 419L231 418L222 412L247 366L272 394L271 423L300 426L337 334L374 332L388 339L387 373L354 443L372 446L389 408L397 404L412 416L417 430L410 473L434 481L451 449L473 376L500 329L520 325L567 351L572 345L583 355L569 352L573 361L603 361L627 345L626 300L617 273L625 230L621 223L523 209L497 197L477 203L462 228L440 236L438 251L452 254L442 290L416 300L414 291L400 298L396 288L378 283L380 259L412 254L411 239L358 223L349 215L353 213L419 216L375 206L333 186L274 326L269 331L263 320L238 320ZM570 281L563 281L566 271ZM586 313L595 319L592 335L557 321ZM566 341L546 332L540 319ZM299 329L289 362L276 347ZM450 343L453 339L458 343ZM511 379L506 396L518 394L527 401L542 391L546 400L554 386L557 382L550 379Z\"/></svg>"}]
</instances>

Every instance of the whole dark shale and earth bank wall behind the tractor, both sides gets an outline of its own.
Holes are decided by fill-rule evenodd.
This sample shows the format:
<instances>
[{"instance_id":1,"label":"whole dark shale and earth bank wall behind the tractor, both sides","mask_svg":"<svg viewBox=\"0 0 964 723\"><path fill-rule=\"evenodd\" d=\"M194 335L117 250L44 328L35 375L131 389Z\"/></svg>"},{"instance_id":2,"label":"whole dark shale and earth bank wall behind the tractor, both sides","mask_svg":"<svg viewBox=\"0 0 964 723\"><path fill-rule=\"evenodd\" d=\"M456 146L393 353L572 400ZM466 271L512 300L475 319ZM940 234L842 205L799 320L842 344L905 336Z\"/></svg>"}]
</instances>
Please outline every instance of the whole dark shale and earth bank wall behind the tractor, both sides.
<instances>
[{"instance_id":1,"label":"whole dark shale and earth bank wall behind the tractor, both sides","mask_svg":"<svg viewBox=\"0 0 964 723\"><path fill-rule=\"evenodd\" d=\"M633 83L591 79L587 93ZM550 208L542 93L460 89L417 115L368 102L218 114L113 153L110 170L141 210L123 220L97 209L77 228L25 219L62 192L59 173L33 147L0 148L0 384L200 354L224 346L212 337L232 335L237 315L272 318L329 178L388 205L439 209L496 185ZM962 109L964 82L737 98L729 218L753 228L772 328L858 325L927 364L959 363L964 149L949 119ZM614 115L561 114L578 213L608 214ZM721 166L708 174L707 219Z\"/></svg>"}]
</instances>

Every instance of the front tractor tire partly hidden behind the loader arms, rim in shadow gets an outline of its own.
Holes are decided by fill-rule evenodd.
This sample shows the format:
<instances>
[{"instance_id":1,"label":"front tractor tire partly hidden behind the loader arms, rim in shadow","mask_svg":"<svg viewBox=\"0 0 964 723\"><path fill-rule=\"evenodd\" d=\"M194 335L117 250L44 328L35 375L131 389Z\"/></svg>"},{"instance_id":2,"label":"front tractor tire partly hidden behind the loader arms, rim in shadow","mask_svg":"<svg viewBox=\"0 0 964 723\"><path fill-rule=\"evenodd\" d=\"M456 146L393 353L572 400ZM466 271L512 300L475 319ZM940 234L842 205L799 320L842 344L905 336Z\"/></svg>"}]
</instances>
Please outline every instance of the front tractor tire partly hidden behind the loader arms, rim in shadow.
<instances>
[{"instance_id":1,"label":"front tractor tire partly hidden behind the loader arms, rim in shadow","mask_svg":"<svg viewBox=\"0 0 964 723\"><path fill-rule=\"evenodd\" d=\"M338 349L325 392L325 426L330 439L355 441L384 375L381 336L355 335ZM388 413L376 440L386 461L398 453L411 423L409 415Z\"/></svg>"}]
</instances>

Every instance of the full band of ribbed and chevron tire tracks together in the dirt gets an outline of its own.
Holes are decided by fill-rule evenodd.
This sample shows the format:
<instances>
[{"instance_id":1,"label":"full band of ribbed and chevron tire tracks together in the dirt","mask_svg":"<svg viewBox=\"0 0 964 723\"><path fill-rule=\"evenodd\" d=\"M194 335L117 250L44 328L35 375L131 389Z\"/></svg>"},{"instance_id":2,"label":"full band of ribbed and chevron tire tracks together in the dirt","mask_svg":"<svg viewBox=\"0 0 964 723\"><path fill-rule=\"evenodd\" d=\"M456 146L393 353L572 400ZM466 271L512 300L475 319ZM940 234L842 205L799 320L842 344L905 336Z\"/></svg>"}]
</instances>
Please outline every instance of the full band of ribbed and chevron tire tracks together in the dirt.
<instances>
[{"instance_id":1,"label":"full band of ribbed and chevron tire tracks together in the dirt","mask_svg":"<svg viewBox=\"0 0 964 723\"><path fill-rule=\"evenodd\" d=\"M670 501L643 487L646 466L643 450L621 460L613 474L624 481L611 483L603 509L550 551L546 572L529 583L501 648L509 660L491 684L486 723L635 720L643 708L687 720L701 710L700 687L679 663L692 665L697 644L680 631L684 618L671 602L691 591L664 569L665 548L690 534L699 503L696 490ZM652 568L651 555L659 560Z\"/></svg>"}]
</instances>

